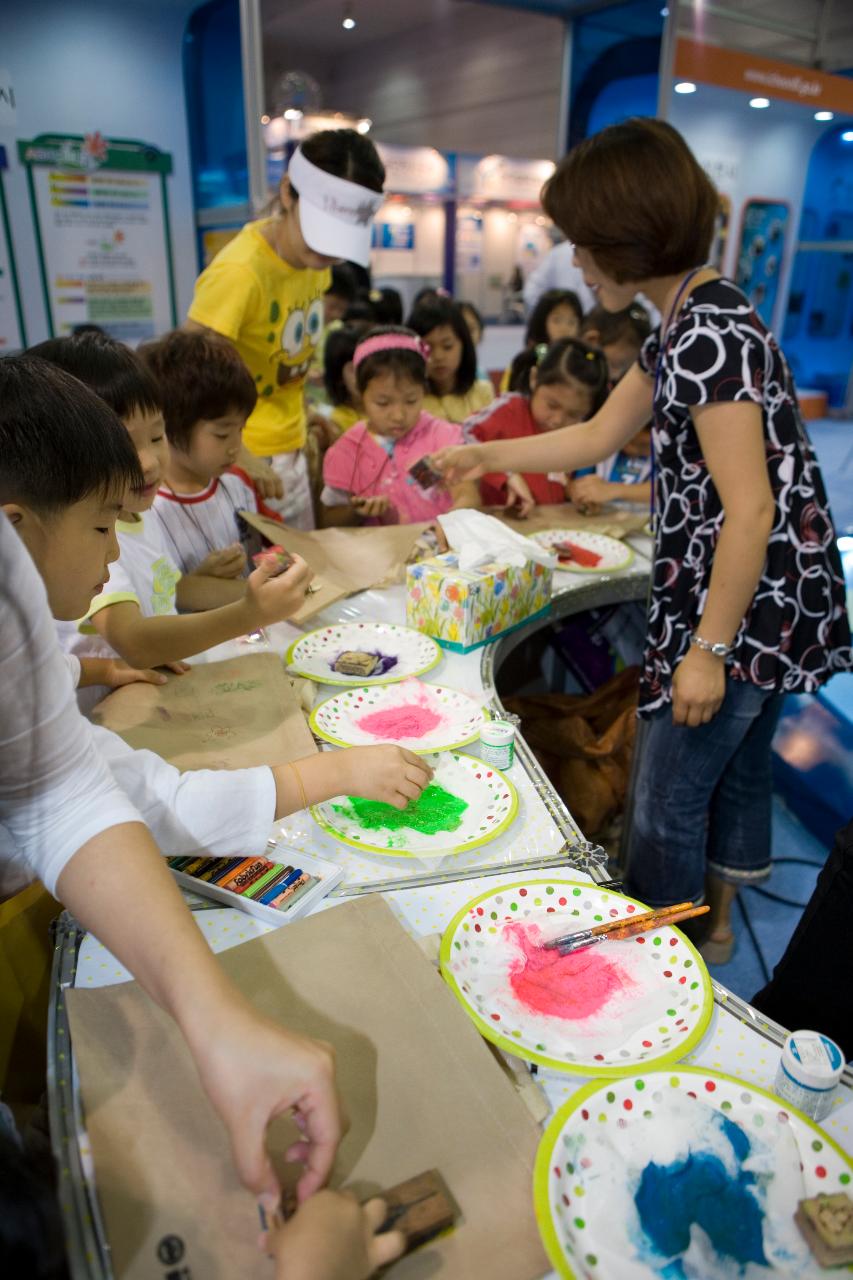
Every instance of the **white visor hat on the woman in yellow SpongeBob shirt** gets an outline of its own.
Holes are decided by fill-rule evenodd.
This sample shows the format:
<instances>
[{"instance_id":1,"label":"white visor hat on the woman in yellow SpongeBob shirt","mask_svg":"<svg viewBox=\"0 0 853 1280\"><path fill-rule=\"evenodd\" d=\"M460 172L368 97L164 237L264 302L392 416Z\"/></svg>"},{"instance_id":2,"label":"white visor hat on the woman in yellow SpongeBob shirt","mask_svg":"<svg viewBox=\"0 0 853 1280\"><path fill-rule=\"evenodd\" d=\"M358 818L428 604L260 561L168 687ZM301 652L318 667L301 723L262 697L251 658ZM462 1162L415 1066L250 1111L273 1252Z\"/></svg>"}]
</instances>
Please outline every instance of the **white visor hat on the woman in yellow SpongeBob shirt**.
<instances>
[{"instance_id":1,"label":"white visor hat on the woman in yellow SpongeBob shirt","mask_svg":"<svg viewBox=\"0 0 853 1280\"><path fill-rule=\"evenodd\" d=\"M298 193L300 227L309 248L324 257L370 265L373 219L384 196L318 169L297 147L287 169Z\"/></svg>"}]
</instances>

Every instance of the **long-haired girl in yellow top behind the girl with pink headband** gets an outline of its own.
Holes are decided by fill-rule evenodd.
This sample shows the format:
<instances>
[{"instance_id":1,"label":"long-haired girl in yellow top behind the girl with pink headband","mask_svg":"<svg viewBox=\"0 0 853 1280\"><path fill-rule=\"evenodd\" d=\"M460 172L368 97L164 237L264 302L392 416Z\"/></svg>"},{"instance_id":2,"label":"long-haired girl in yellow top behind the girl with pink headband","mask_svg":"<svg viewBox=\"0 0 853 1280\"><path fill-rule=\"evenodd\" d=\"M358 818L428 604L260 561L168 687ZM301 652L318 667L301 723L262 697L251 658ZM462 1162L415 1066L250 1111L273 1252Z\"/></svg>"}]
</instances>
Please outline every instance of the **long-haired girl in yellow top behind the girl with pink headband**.
<instances>
[{"instance_id":1,"label":"long-haired girl in yellow top behind the girl with pink headband","mask_svg":"<svg viewBox=\"0 0 853 1280\"><path fill-rule=\"evenodd\" d=\"M424 410L446 422L464 422L494 399L494 389L476 376L476 351L461 308L450 298L424 300L409 328L429 348Z\"/></svg>"}]
</instances>

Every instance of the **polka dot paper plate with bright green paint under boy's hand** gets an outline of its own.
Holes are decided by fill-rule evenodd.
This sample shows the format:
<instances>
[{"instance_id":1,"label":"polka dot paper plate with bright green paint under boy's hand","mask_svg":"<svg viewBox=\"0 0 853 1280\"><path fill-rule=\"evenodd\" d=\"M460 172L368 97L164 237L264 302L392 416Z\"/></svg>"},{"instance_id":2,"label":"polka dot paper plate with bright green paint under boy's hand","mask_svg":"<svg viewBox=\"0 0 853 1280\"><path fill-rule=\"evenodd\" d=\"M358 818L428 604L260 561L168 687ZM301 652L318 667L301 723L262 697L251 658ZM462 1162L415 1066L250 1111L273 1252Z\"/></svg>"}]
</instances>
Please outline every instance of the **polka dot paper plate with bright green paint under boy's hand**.
<instances>
[{"instance_id":1,"label":"polka dot paper plate with bright green paint under boy's hand","mask_svg":"<svg viewBox=\"0 0 853 1280\"><path fill-rule=\"evenodd\" d=\"M400 810L377 800L337 796L311 813L345 845L391 858L464 854L515 822L519 797L503 773L473 755L428 756L435 771L419 800Z\"/></svg>"}]
</instances>

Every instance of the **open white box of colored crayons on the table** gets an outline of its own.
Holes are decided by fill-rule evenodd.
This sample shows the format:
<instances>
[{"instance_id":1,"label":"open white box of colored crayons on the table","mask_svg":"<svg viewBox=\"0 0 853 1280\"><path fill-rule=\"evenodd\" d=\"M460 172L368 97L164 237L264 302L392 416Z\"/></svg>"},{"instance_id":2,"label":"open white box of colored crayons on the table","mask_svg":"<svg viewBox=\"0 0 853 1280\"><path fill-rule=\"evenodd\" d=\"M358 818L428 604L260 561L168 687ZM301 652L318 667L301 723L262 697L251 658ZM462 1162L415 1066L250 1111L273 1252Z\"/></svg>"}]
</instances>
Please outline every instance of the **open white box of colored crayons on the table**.
<instances>
[{"instance_id":1,"label":"open white box of colored crayons on the table","mask_svg":"<svg viewBox=\"0 0 853 1280\"><path fill-rule=\"evenodd\" d=\"M178 884L223 906L284 924L305 915L343 878L343 868L277 845L269 856L169 858Z\"/></svg>"}]
</instances>

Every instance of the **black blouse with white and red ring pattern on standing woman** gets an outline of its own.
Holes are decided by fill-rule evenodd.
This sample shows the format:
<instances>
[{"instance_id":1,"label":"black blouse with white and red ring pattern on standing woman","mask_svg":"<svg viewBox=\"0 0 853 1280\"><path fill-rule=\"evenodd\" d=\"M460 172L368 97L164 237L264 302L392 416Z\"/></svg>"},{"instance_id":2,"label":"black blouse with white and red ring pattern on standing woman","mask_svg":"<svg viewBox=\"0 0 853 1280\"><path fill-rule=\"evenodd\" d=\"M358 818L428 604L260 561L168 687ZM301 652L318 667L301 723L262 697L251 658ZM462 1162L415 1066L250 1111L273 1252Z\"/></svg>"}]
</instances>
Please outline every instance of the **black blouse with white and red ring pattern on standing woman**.
<instances>
[{"instance_id":1,"label":"black blouse with white and red ring pattern on standing woman","mask_svg":"<svg viewBox=\"0 0 853 1280\"><path fill-rule=\"evenodd\" d=\"M640 352L652 378L660 347L652 334ZM711 280L692 289L671 325L657 381L656 556L640 713L671 698L672 672L704 609L724 518L690 408L739 401L762 408L776 516L729 675L780 692L813 692L853 667L833 517L790 370L742 291Z\"/></svg>"}]
</instances>

